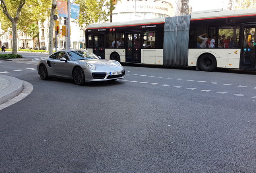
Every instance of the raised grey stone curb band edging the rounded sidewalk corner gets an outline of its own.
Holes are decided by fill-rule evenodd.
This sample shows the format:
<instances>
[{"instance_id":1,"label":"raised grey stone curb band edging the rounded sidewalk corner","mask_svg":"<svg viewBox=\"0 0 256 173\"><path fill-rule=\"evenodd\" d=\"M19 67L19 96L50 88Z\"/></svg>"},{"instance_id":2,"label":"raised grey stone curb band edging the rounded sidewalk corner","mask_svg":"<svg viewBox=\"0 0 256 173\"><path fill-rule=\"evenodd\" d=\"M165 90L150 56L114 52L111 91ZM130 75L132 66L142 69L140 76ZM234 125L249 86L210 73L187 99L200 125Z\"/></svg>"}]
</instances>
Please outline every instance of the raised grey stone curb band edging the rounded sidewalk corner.
<instances>
[{"instance_id":1,"label":"raised grey stone curb band edging the rounded sidewalk corner","mask_svg":"<svg viewBox=\"0 0 256 173\"><path fill-rule=\"evenodd\" d=\"M0 77L10 81L8 87L0 91L0 105L17 96L23 90L23 82L18 78L0 74Z\"/></svg>"}]
</instances>

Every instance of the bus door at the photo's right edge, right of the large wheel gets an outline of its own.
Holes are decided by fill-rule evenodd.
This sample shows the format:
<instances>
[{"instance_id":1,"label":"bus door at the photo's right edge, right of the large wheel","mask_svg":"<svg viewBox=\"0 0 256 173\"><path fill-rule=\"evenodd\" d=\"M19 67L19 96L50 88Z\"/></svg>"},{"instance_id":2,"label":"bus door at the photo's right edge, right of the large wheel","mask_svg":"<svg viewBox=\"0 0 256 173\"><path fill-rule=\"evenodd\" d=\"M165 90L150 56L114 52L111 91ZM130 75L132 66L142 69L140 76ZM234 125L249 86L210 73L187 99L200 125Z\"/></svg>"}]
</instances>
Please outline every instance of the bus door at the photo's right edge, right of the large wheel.
<instances>
[{"instance_id":1,"label":"bus door at the photo's right edge, right of the large wheel","mask_svg":"<svg viewBox=\"0 0 256 173\"><path fill-rule=\"evenodd\" d=\"M241 68L256 70L256 24L244 25Z\"/></svg>"}]
</instances>

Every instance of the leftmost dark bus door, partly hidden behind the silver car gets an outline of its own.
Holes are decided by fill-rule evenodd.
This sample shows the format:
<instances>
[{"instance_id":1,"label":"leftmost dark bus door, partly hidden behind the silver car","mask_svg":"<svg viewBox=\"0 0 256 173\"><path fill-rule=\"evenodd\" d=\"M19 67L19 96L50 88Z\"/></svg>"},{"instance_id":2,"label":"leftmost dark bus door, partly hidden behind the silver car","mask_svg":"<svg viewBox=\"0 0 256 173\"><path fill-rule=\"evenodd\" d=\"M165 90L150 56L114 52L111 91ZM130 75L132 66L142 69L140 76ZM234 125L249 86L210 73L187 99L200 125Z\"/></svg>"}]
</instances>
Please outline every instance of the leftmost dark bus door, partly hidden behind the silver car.
<instances>
[{"instance_id":1,"label":"leftmost dark bus door, partly hidden behind the silver car","mask_svg":"<svg viewBox=\"0 0 256 173\"><path fill-rule=\"evenodd\" d=\"M104 34L92 35L93 53L105 59Z\"/></svg>"}]
</instances>

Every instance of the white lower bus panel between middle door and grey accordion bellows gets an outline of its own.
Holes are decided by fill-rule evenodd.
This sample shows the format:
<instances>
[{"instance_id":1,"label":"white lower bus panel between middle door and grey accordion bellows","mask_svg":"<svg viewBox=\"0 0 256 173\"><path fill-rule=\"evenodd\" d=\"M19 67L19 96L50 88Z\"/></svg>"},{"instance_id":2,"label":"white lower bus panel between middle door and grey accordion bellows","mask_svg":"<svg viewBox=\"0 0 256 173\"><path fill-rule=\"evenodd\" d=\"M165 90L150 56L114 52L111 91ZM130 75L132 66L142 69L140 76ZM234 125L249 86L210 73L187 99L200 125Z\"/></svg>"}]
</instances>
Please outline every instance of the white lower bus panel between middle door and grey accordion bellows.
<instances>
[{"instance_id":1,"label":"white lower bus panel between middle door and grey accordion bellows","mask_svg":"<svg viewBox=\"0 0 256 173\"><path fill-rule=\"evenodd\" d=\"M142 49L141 63L163 65L163 49Z\"/></svg>"}]
</instances>

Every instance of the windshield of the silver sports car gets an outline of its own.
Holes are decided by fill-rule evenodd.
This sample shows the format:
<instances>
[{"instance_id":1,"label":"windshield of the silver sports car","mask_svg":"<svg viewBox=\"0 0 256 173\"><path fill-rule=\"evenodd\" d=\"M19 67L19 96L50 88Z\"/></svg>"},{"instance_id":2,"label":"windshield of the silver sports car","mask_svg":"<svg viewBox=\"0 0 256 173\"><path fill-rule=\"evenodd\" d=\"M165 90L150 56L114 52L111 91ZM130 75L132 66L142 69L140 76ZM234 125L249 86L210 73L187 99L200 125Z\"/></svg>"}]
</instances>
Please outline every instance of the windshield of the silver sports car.
<instances>
[{"instance_id":1,"label":"windshield of the silver sports car","mask_svg":"<svg viewBox=\"0 0 256 173\"><path fill-rule=\"evenodd\" d=\"M99 59L95 54L84 50L74 50L68 52L68 55L72 60L88 60L88 59Z\"/></svg>"}]
</instances>

